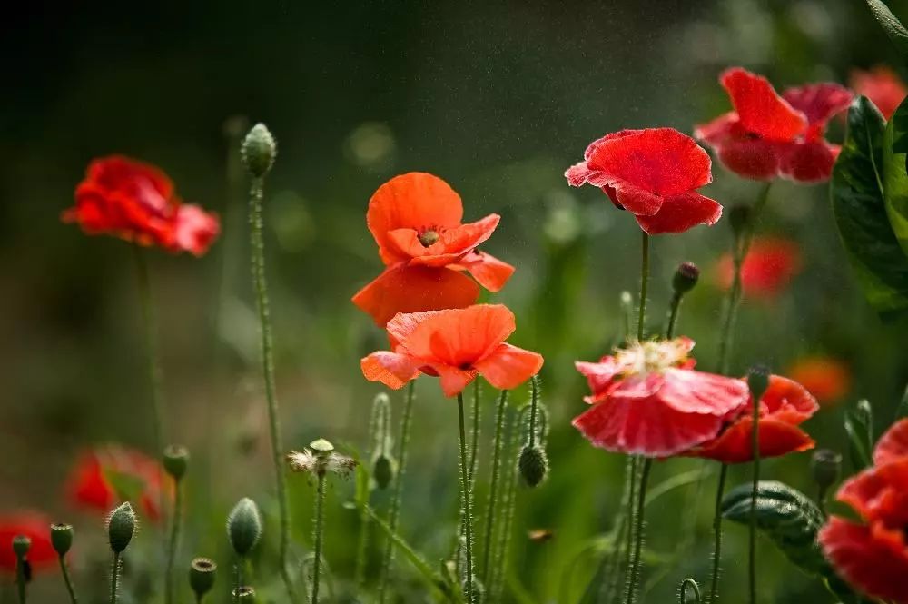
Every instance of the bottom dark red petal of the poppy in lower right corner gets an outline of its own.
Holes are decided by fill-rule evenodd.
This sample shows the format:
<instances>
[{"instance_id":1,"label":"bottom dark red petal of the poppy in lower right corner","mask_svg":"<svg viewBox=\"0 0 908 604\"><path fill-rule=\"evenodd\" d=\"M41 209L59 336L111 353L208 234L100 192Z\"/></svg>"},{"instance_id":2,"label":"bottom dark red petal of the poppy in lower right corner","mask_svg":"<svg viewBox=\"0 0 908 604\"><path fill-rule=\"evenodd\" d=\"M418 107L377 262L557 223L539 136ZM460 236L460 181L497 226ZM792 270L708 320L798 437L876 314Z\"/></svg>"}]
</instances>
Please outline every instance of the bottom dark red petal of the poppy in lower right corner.
<instances>
[{"instance_id":1,"label":"bottom dark red petal of the poppy in lower right corner","mask_svg":"<svg viewBox=\"0 0 908 604\"><path fill-rule=\"evenodd\" d=\"M843 579L874 598L906 602L908 555L893 540L875 537L870 527L833 517L818 540Z\"/></svg>"}]
</instances>

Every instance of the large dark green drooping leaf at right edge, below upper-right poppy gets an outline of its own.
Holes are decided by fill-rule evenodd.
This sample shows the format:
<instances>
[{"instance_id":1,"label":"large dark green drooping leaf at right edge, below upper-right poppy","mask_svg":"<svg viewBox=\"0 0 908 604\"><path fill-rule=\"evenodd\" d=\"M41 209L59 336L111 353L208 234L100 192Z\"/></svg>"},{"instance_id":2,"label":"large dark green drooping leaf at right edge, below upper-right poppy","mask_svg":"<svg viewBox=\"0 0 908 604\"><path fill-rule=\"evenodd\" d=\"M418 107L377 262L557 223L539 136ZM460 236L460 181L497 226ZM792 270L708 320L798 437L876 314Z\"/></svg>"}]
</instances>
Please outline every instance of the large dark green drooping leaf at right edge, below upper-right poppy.
<instances>
[{"instance_id":1,"label":"large dark green drooping leaf at right edge, below upper-right poppy","mask_svg":"<svg viewBox=\"0 0 908 604\"><path fill-rule=\"evenodd\" d=\"M908 311L908 257L886 213L883 115L863 96L848 111L848 135L833 169L835 223L864 296L884 317Z\"/></svg>"}]
</instances>

